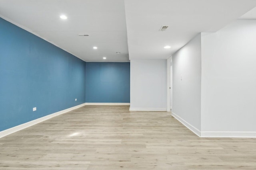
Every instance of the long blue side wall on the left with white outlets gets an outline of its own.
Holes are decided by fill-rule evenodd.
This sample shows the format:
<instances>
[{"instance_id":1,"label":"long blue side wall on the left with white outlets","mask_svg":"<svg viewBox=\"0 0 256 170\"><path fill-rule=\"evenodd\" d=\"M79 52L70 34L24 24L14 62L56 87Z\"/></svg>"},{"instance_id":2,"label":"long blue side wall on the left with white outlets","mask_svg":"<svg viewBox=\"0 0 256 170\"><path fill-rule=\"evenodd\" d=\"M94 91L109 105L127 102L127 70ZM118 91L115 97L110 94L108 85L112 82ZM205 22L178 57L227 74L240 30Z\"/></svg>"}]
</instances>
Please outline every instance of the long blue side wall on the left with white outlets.
<instances>
[{"instance_id":1,"label":"long blue side wall on the left with white outlets","mask_svg":"<svg viewBox=\"0 0 256 170\"><path fill-rule=\"evenodd\" d=\"M2 18L0 25L0 131L85 103L84 61Z\"/></svg>"}]
</instances>

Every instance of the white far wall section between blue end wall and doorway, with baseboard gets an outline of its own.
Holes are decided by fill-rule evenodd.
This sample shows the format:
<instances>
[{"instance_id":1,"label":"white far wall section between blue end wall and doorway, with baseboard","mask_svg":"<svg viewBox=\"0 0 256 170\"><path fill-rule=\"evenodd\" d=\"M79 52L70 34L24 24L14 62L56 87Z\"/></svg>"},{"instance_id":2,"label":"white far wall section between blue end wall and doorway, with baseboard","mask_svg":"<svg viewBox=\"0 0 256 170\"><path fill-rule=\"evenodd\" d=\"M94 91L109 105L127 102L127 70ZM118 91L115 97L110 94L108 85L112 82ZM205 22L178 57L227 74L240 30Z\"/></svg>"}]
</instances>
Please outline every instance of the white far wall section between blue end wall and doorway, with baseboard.
<instances>
[{"instance_id":1,"label":"white far wall section between blue end wall and doorway, with baseboard","mask_svg":"<svg viewBox=\"0 0 256 170\"><path fill-rule=\"evenodd\" d=\"M130 110L166 111L166 60L130 64Z\"/></svg>"}]
</instances>

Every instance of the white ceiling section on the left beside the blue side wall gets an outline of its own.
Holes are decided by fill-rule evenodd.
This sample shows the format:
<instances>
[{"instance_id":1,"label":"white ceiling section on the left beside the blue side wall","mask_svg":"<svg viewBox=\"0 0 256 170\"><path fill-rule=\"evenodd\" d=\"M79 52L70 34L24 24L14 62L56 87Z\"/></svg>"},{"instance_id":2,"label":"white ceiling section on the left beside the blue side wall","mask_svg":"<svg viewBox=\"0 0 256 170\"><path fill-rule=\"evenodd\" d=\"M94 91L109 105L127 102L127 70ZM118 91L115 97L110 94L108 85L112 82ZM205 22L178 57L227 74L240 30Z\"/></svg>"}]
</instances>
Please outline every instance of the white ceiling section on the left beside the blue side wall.
<instances>
[{"instance_id":1,"label":"white ceiling section on the left beside the blue side wall","mask_svg":"<svg viewBox=\"0 0 256 170\"><path fill-rule=\"evenodd\" d=\"M123 0L0 0L0 16L84 61L129 61Z\"/></svg>"}]
</instances>

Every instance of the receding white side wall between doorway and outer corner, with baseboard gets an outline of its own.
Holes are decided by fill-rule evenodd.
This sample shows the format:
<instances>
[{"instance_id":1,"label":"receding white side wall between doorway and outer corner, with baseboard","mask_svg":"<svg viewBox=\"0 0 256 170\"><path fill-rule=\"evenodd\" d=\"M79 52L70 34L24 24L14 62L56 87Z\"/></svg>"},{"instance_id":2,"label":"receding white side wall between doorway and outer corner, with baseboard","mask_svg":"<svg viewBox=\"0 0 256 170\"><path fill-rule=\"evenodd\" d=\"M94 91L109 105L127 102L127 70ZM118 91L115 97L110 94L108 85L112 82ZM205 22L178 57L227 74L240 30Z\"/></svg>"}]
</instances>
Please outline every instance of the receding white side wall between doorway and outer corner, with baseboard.
<instances>
[{"instance_id":1,"label":"receding white side wall between doorway and outer corner, with baseboard","mask_svg":"<svg viewBox=\"0 0 256 170\"><path fill-rule=\"evenodd\" d=\"M201 35L172 55L172 115L200 136Z\"/></svg>"}]
</instances>

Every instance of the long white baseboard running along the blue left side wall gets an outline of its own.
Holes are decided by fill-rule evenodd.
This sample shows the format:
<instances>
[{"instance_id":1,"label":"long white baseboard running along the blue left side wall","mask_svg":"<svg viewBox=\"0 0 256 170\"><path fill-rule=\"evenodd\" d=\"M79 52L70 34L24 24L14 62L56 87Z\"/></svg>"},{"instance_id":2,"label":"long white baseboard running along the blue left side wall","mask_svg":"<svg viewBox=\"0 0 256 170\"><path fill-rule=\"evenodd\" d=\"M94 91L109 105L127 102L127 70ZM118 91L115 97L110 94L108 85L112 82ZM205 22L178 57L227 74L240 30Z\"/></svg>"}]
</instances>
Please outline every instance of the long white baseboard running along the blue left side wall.
<instances>
[{"instance_id":1,"label":"long white baseboard running along the blue left side wall","mask_svg":"<svg viewBox=\"0 0 256 170\"><path fill-rule=\"evenodd\" d=\"M65 110L58 111L58 112L56 112L56 113L52 113L52 114L50 114L50 115L46 115L46 116L44 116L44 117L40 117L40 118L38 118L38 119L29 121L29 122L27 122L27 123L23 123L23 124L18 125L18 126L11 127L10 129L6 129L6 130L4 130L4 131L0 131L0 138L1 138L1 137L5 137L5 136L7 136L7 135L10 135L10 134L12 134L12 133L14 133L14 132L20 131L20 130L22 130L22 129L25 129L25 128L27 128L27 127L30 127L30 126L32 126L32 125L36 125L37 123L40 123L40 122L42 122L42 121L45 121L45 120L47 120L47 119L50 119L50 118L52 118L52 117L61 115L61 114L63 114L63 113L66 113L66 112L68 112L68 111L77 109L77 108L82 107L82 106L85 106L85 103L84 103L84 104L80 104L80 105L78 105L78 106L70 107L70 108L65 109Z\"/></svg>"}]
</instances>

